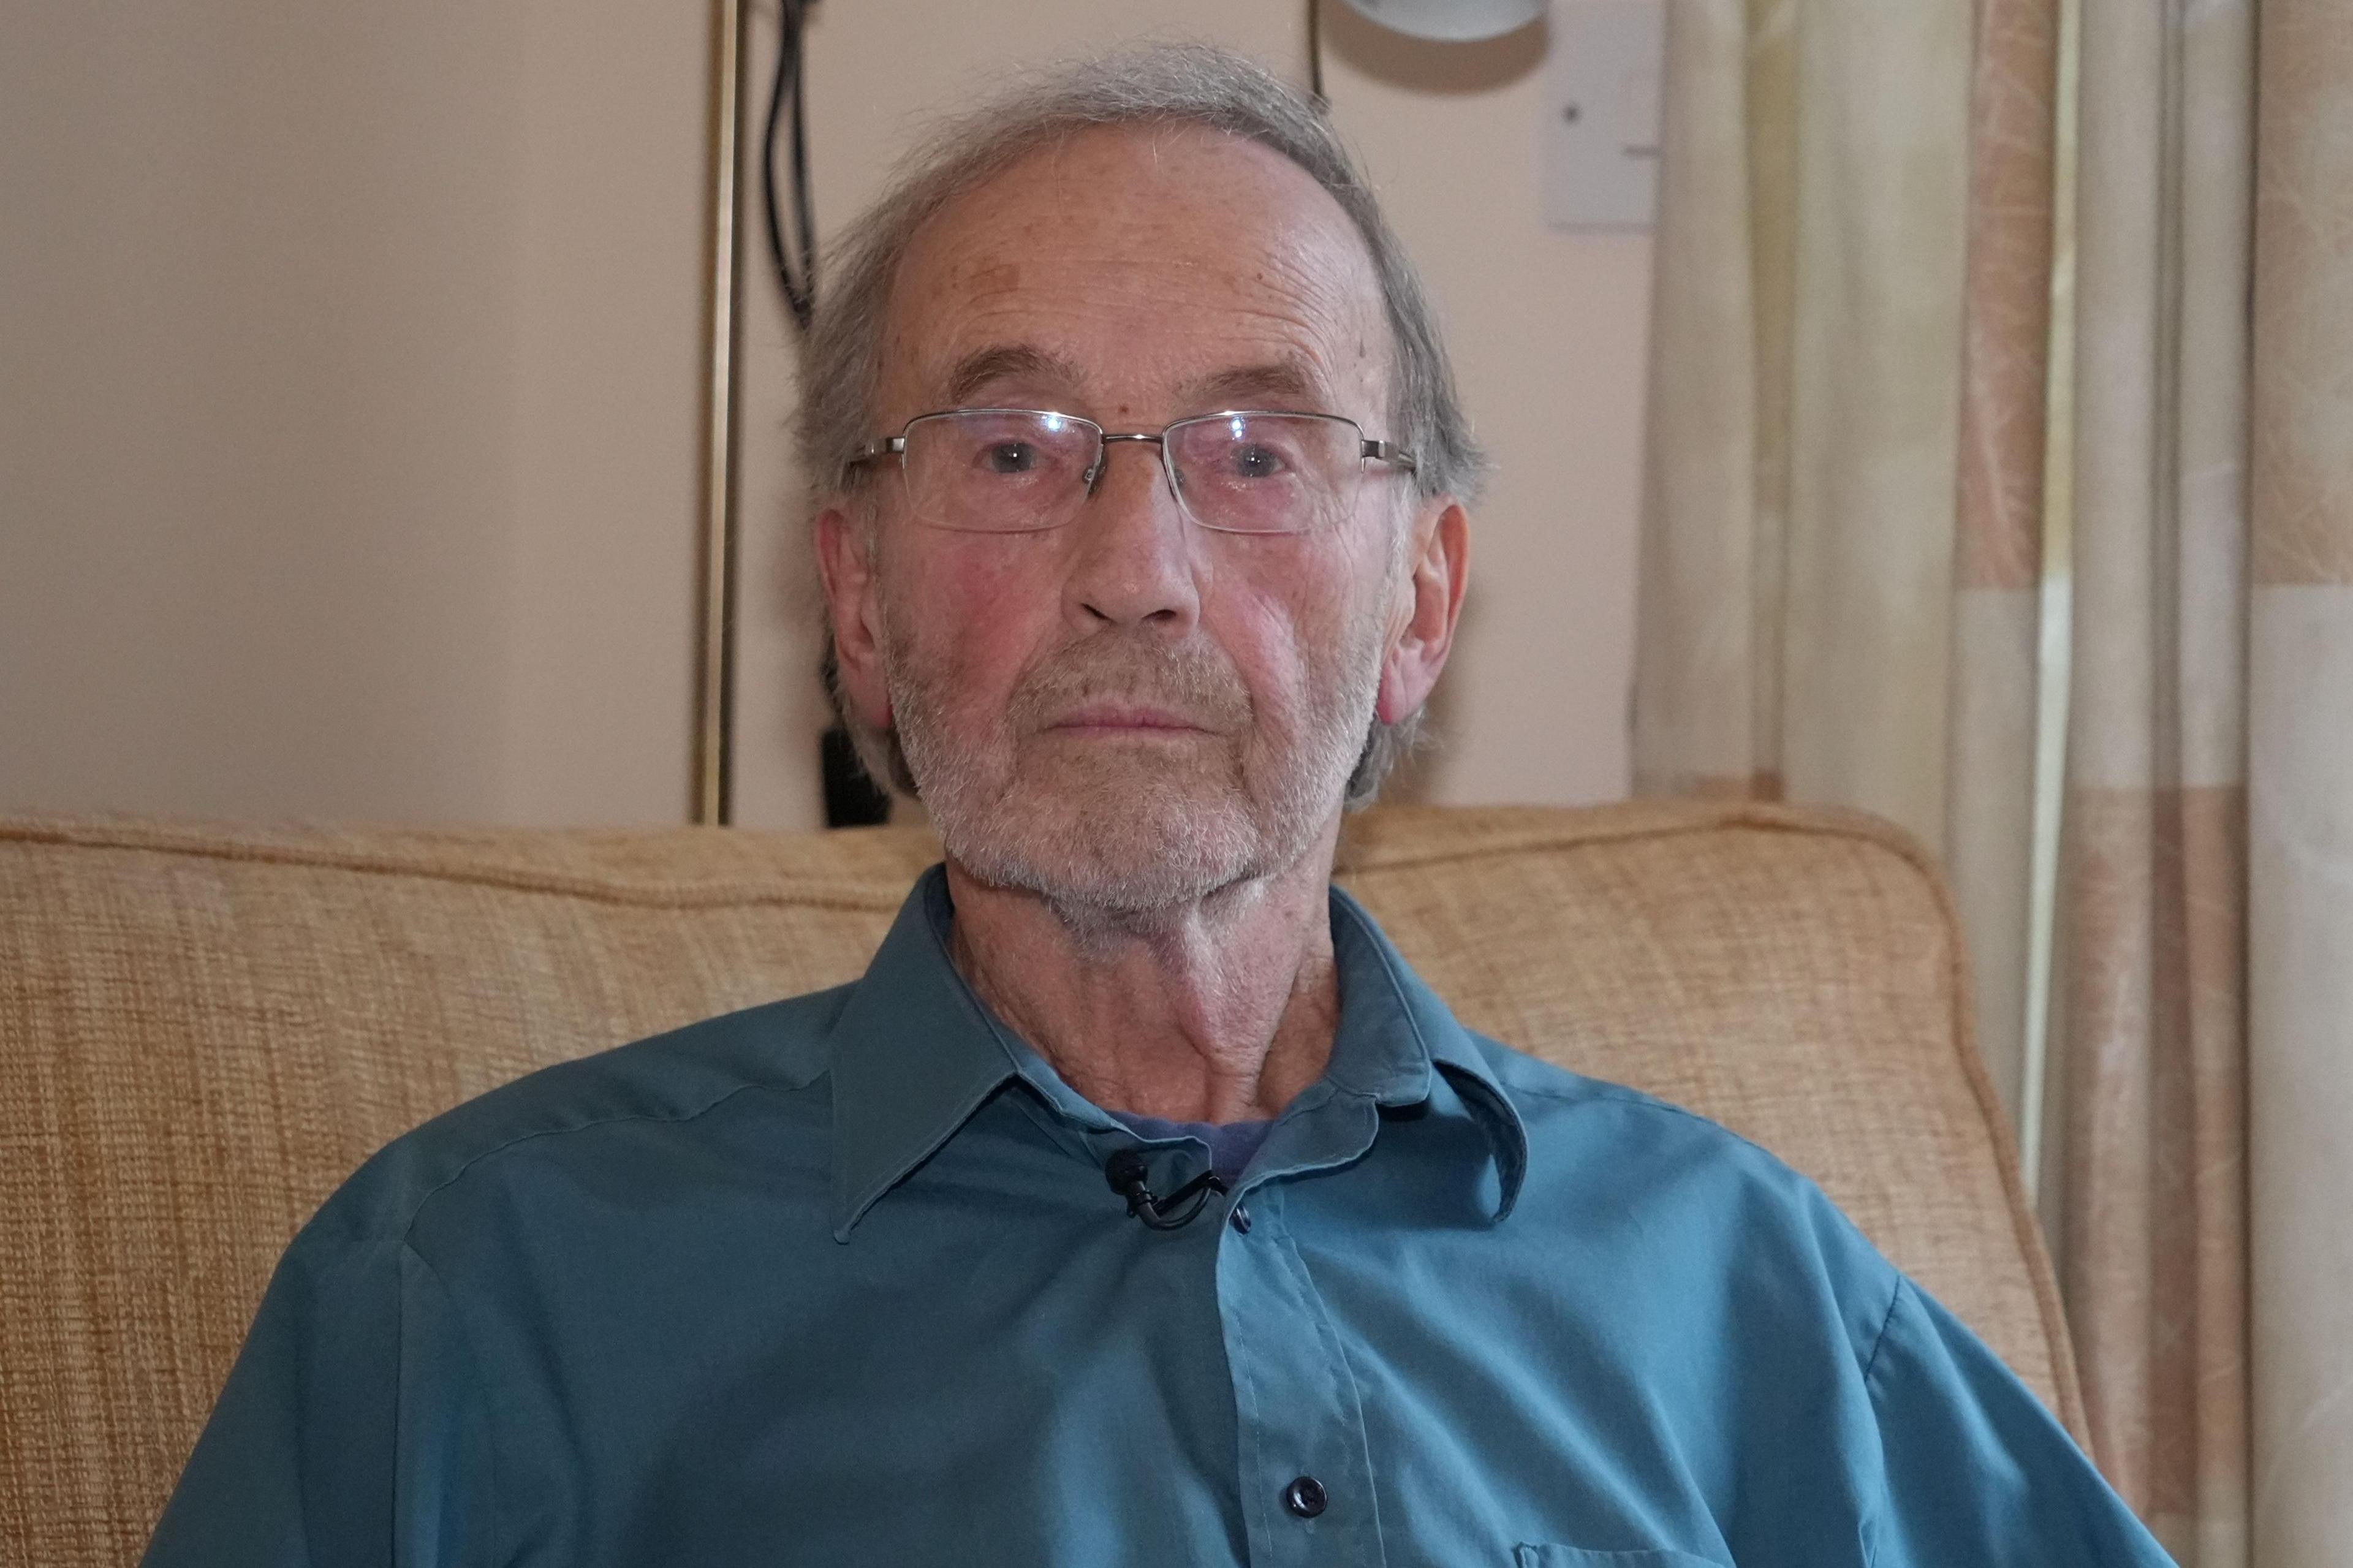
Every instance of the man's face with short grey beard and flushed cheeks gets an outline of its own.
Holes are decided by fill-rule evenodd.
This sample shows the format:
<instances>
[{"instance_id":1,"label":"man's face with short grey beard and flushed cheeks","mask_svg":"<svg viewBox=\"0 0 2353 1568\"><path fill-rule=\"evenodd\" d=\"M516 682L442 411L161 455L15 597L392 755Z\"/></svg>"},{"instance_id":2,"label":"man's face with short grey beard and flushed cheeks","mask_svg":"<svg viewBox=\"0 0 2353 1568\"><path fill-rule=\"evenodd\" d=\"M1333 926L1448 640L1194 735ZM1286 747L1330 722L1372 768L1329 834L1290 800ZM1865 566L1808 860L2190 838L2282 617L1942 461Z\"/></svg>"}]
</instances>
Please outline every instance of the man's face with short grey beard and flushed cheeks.
<instances>
[{"instance_id":1,"label":"man's face with short grey beard and flushed cheeks","mask_svg":"<svg viewBox=\"0 0 2353 1568\"><path fill-rule=\"evenodd\" d=\"M1388 372L1372 261L1306 172L1198 127L1106 129L918 235L875 433L944 407L1106 431L1273 407L1386 438ZM932 527L882 469L871 518L828 513L821 549L847 695L896 727L948 852L1134 916L1280 871L1332 829L1426 530L1381 464L1337 527L1219 534L1179 513L1158 447L1106 452L1061 527Z\"/></svg>"}]
</instances>

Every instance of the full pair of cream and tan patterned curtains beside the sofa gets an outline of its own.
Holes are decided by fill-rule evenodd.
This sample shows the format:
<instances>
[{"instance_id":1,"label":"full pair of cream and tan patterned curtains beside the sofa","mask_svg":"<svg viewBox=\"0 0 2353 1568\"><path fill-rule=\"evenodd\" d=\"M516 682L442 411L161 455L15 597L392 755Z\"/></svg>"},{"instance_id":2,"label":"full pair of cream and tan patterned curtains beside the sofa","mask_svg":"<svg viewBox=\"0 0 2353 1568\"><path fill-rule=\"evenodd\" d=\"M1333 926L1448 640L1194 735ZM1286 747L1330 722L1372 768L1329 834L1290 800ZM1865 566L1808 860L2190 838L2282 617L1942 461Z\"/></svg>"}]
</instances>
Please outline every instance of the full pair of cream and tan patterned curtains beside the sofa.
<instances>
[{"instance_id":1,"label":"full pair of cream and tan patterned curtains beside the sofa","mask_svg":"<svg viewBox=\"0 0 2353 1568\"><path fill-rule=\"evenodd\" d=\"M2191 1568L2353 1540L2348 104L2353 0L1668 5L1638 789L1944 850Z\"/></svg>"}]
</instances>

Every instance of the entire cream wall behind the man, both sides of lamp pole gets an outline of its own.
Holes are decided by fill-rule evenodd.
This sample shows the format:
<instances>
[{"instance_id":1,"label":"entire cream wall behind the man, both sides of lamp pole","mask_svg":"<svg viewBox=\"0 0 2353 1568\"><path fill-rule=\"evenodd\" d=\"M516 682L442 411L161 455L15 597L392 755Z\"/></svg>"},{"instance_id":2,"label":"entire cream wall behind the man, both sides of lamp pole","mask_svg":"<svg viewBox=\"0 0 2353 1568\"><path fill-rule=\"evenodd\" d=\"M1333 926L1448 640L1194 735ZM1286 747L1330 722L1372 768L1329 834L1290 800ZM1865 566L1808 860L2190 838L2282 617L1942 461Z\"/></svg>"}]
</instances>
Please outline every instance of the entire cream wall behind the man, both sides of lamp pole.
<instances>
[{"instance_id":1,"label":"entire cream wall behind the man, both sides of lamp pole","mask_svg":"<svg viewBox=\"0 0 2353 1568\"><path fill-rule=\"evenodd\" d=\"M1141 33L1304 73L1292 5L821 5L821 221L922 106ZM706 7L614 0L0 12L0 810L685 817L708 47ZM1647 242L1541 231L1539 47L1327 26L1504 461L1417 782L1449 800L1626 784ZM748 257L739 805L802 824Z\"/></svg>"}]
</instances>

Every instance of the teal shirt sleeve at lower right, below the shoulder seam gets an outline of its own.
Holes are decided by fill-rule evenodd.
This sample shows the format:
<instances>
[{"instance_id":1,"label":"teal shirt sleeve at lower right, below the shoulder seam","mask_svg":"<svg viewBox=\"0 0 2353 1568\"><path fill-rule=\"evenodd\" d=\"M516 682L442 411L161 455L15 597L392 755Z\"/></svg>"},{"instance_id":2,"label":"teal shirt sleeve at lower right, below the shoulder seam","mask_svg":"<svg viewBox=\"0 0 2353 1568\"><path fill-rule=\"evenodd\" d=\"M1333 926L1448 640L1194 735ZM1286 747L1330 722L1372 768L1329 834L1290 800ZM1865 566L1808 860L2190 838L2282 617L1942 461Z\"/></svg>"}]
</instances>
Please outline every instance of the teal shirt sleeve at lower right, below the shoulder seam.
<instances>
[{"instance_id":1,"label":"teal shirt sleeve at lower right, below the shoulder seam","mask_svg":"<svg viewBox=\"0 0 2353 1568\"><path fill-rule=\"evenodd\" d=\"M1873 1568L2172 1568L2042 1401L1911 1281L1866 1382L1882 1464Z\"/></svg>"}]
</instances>

